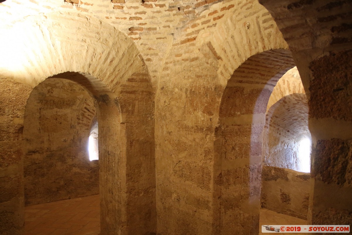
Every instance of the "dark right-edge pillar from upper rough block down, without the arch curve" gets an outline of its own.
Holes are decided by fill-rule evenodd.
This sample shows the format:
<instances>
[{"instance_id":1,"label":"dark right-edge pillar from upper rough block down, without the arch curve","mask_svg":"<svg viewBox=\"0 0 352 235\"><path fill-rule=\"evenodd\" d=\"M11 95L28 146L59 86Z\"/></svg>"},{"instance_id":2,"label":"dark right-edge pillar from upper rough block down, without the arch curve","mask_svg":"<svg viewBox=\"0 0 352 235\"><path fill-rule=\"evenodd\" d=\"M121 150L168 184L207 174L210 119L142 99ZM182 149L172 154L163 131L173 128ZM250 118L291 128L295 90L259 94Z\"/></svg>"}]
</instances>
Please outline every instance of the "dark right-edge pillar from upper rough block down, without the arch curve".
<instances>
[{"instance_id":1,"label":"dark right-edge pillar from upper rough block down, without the arch curve","mask_svg":"<svg viewBox=\"0 0 352 235\"><path fill-rule=\"evenodd\" d=\"M352 226L352 50L310 62L312 224Z\"/></svg>"}]
</instances>

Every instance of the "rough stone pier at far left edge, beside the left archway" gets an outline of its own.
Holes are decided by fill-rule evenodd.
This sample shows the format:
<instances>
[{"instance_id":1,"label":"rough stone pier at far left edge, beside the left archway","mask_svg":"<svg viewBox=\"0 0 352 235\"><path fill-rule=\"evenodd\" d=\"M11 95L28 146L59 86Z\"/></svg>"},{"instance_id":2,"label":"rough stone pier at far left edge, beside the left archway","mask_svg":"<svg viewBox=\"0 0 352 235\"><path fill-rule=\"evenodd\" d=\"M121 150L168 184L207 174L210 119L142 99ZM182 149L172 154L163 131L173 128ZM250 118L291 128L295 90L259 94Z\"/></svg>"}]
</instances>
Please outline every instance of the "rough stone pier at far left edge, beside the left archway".
<instances>
[{"instance_id":1,"label":"rough stone pier at far left edge, beside the left archway","mask_svg":"<svg viewBox=\"0 0 352 235\"><path fill-rule=\"evenodd\" d=\"M0 234L23 234L23 116L31 88L0 79Z\"/></svg>"}]
</instances>

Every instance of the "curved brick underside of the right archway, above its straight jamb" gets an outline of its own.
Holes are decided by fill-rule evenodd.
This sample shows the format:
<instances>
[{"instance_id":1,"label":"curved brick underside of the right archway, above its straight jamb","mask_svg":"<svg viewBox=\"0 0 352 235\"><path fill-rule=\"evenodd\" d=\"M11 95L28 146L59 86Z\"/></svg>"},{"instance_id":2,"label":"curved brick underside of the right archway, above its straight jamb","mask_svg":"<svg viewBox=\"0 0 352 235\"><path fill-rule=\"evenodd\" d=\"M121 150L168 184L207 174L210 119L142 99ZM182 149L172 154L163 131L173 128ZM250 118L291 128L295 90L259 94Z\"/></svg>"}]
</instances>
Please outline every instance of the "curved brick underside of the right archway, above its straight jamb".
<instances>
[{"instance_id":1,"label":"curved brick underside of the right archway, above its straight jamb","mask_svg":"<svg viewBox=\"0 0 352 235\"><path fill-rule=\"evenodd\" d=\"M227 82L220 103L220 118L229 115L265 113L272 89L277 81L294 66L291 52L285 49L267 50L250 56L233 72ZM260 91L259 94L254 94L255 101L253 95L249 94L251 89L255 89L257 93ZM243 106L241 101L234 100L238 93L248 95L248 98L253 101L246 106L244 113L239 111Z\"/></svg>"}]
</instances>

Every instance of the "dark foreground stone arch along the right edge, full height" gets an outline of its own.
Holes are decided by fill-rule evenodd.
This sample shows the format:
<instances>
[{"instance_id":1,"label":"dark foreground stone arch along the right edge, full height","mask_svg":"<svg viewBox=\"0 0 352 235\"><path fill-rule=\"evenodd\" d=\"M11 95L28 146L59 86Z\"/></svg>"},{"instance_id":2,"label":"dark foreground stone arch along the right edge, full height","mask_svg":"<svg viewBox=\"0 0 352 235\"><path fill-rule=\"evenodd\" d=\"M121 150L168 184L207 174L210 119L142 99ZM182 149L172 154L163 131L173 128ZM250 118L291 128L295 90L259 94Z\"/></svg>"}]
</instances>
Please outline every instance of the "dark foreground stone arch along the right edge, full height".
<instances>
[{"instance_id":1,"label":"dark foreground stone arch along the right edge, full height","mask_svg":"<svg viewBox=\"0 0 352 235\"><path fill-rule=\"evenodd\" d=\"M351 105L346 104L352 101L352 2L259 2L270 11L293 51L307 92L314 182L308 223L352 226L351 171L341 168L341 162L348 169L351 166Z\"/></svg>"}]
</instances>

